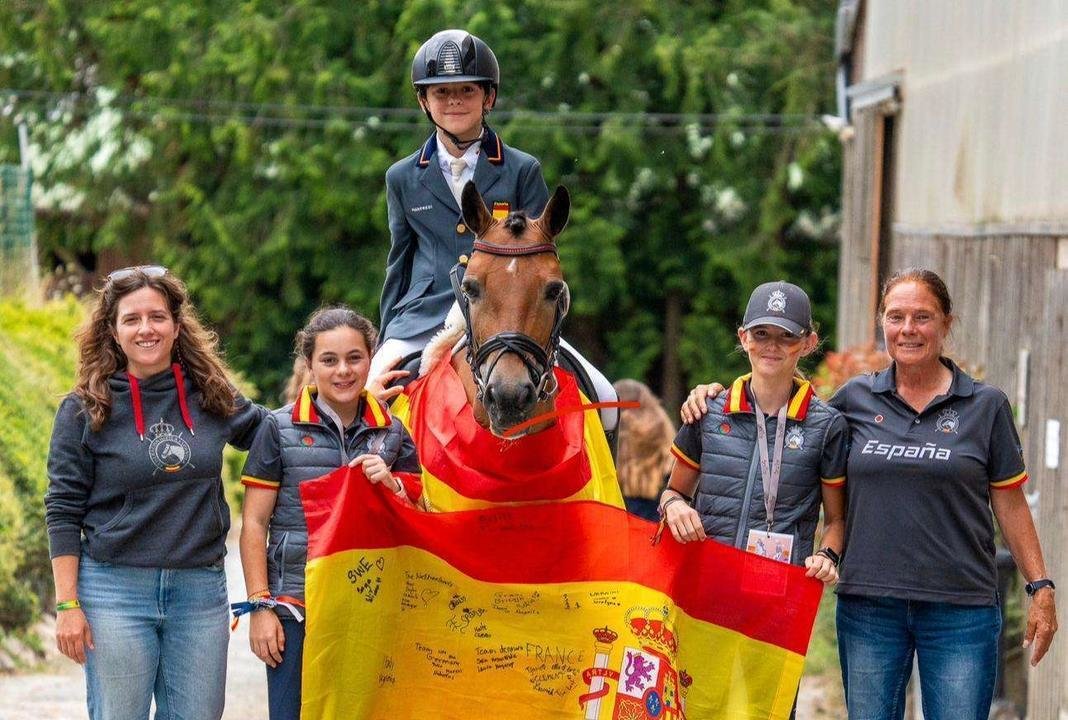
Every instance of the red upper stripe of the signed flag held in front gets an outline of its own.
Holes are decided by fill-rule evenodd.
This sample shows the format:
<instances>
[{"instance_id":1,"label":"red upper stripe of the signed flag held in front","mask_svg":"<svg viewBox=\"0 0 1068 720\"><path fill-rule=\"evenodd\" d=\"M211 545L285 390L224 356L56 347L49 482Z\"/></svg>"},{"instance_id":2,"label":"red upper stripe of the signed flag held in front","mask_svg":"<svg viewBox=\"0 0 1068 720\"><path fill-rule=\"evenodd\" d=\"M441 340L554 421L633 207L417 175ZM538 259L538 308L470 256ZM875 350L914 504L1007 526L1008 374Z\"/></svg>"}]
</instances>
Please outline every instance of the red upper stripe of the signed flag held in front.
<instances>
[{"instance_id":1,"label":"red upper stripe of the signed flag held in front","mask_svg":"<svg viewBox=\"0 0 1068 720\"><path fill-rule=\"evenodd\" d=\"M423 513L352 468L301 483L300 495L309 560L411 546L485 582L634 582L672 597L695 620L799 655L822 594L803 568L713 541L679 545L665 536L650 546L655 525L597 502Z\"/></svg>"}]
</instances>

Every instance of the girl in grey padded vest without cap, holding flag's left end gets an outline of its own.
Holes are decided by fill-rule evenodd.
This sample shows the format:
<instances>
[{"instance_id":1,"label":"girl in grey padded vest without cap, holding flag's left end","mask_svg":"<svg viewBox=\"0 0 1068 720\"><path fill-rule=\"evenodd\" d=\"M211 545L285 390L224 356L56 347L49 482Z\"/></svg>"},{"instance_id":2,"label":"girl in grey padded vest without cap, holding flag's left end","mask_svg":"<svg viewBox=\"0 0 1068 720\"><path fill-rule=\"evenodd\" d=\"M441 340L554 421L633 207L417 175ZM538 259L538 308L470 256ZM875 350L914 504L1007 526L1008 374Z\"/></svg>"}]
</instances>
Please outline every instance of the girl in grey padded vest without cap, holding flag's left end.
<instances>
[{"instance_id":1,"label":"girl in grey padded vest without cap, holding flag's left end","mask_svg":"<svg viewBox=\"0 0 1068 720\"><path fill-rule=\"evenodd\" d=\"M348 308L312 315L297 333L296 350L314 385L267 417L245 464L241 565L256 608L249 643L267 663L271 720L300 717L308 551L300 483L359 466L371 482L407 497L404 483L419 476L407 431L364 387L377 334Z\"/></svg>"}]
</instances>

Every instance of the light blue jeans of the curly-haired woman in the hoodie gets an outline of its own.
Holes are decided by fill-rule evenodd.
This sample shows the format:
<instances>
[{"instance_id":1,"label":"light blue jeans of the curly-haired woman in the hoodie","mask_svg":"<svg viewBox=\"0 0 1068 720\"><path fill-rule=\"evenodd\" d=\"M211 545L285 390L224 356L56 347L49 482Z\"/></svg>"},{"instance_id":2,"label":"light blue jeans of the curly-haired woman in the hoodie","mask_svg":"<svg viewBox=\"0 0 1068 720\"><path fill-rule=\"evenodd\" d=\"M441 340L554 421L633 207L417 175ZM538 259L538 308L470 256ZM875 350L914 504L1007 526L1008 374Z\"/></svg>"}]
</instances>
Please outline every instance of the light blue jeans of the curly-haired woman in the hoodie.
<instances>
[{"instance_id":1,"label":"light blue jeans of the curly-haired woman in the hoodie","mask_svg":"<svg viewBox=\"0 0 1068 720\"><path fill-rule=\"evenodd\" d=\"M78 597L93 632L92 720L219 720L230 642L226 576L98 563L82 552Z\"/></svg>"}]
</instances>

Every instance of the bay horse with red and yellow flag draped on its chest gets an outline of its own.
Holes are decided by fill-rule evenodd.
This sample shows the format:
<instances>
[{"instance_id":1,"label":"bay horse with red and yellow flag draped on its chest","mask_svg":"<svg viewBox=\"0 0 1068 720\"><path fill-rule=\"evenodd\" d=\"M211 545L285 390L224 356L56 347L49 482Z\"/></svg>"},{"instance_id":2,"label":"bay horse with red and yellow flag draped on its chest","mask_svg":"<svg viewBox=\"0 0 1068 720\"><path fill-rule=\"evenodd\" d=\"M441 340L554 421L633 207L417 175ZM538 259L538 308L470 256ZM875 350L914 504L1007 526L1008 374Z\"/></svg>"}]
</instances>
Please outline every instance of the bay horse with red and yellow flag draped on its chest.
<instances>
[{"instance_id":1,"label":"bay horse with red and yellow flag draped on its chest","mask_svg":"<svg viewBox=\"0 0 1068 720\"><path fill-rule=\"evenodd\" d=\"M460 317L427 346L420 377L393 406L419 450L424 506L622 506L598 413L580 409L586 398L556 364L570 306L555 242L570 214L566 188L538 218L494 218L474 183L460 208L475 236L470 259L452 271Z\"/></svg>"}]
</instances>

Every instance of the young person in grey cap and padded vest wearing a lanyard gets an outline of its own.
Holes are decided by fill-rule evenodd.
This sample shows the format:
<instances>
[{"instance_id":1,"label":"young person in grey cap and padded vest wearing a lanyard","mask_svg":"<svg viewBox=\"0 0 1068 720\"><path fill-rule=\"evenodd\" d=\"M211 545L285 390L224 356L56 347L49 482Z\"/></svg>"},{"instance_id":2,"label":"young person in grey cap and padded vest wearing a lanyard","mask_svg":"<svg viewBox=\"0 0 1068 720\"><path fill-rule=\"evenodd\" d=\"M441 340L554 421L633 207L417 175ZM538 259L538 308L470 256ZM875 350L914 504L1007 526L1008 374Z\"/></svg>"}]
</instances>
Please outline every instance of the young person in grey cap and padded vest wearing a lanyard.
<instances>
[{"instance_id":1,"label":"young person in grey cap and padded vest wearing a lanyard","mask_svg":"<svg viewBox=\"0 0 1068 720\"><path fill-rule=\"evenodd\" d=\"M848 431L798 376L819 340L808 297L771 282L753 291L738 340L752 372L684 425L660 513L680 543L706 537L837 580ZM820 503L822 547L813 551Z\"/></svg>"}]
</instances>

